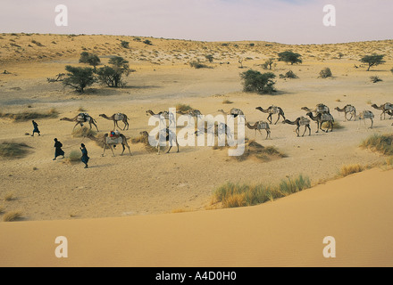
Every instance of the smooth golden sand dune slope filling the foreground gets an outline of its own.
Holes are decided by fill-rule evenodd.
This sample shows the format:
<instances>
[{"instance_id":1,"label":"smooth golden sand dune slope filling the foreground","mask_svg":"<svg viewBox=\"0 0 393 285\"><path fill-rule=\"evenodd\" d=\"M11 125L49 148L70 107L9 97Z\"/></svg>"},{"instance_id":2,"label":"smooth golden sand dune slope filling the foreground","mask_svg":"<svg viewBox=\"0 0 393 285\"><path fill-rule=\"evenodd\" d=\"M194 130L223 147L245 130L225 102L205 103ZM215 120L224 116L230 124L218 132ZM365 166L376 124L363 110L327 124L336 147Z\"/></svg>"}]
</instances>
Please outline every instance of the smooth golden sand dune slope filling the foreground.
<instances>
[{"instance_id":1,"label":"smooth golden sand dune slope filling the foreground","mask_svg":"<svg viewBox=\"0 0 393 285\"><path fill-rule=\"evenodd\" d=\"M392 170L252 208L0 224L0 266L392 266ZM54 256L65 236L69 257ZM332 236L337 257L322 256Z\"/></svg>"}]
</instances>

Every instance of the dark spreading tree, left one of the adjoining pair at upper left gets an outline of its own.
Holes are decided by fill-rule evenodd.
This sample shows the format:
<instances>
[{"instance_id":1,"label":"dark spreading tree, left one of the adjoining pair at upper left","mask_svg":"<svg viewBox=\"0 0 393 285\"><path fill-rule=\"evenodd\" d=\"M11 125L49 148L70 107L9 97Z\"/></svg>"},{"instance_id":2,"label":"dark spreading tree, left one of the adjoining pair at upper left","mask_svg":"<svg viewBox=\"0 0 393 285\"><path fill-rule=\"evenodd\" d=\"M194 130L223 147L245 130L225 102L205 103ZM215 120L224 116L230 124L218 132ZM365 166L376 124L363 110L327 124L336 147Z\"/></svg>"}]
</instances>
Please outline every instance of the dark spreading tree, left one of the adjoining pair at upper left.
<instances>
[{"instance_id":1,"label":"dark spreading tree, left one of the adjoining pair at upper left","mask_svg":"<svg viewBox=\"0 0 393 285\"><path fill-rule=\"evenodd\" d=\"M65 70L68 71L67 77L63 79L64 86L71 86L79 93L84 93L85 88L95 83L93 69L79 68L67 65Z\"/></svg>"}]
</instances>

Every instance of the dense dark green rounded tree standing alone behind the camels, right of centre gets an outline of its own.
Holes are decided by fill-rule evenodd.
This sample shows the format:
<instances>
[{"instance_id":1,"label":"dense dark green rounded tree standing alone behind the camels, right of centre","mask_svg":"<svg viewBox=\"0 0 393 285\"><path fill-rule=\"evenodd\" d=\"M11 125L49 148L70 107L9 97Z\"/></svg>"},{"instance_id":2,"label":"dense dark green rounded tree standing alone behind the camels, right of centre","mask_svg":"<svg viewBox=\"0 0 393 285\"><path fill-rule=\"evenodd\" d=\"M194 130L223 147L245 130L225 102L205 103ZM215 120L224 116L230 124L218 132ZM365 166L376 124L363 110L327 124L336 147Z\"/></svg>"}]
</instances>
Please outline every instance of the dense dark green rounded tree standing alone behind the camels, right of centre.
<instances>
[{"instance_id":1,"label":"dense dark green rounded tree standing alone behind the camels, right of centre","mask_svg":"<svg viewBox=\"0 0 393 285\"><path fill-rule=\"evenodd\" d=\"M261 73L259 71L249 69L240 74L243 82L243 90L245 92L256 92L259 94L272 94L276 77L272 72Z\"/></svg>"}]
</instances>

